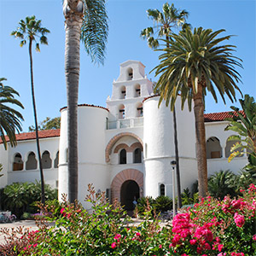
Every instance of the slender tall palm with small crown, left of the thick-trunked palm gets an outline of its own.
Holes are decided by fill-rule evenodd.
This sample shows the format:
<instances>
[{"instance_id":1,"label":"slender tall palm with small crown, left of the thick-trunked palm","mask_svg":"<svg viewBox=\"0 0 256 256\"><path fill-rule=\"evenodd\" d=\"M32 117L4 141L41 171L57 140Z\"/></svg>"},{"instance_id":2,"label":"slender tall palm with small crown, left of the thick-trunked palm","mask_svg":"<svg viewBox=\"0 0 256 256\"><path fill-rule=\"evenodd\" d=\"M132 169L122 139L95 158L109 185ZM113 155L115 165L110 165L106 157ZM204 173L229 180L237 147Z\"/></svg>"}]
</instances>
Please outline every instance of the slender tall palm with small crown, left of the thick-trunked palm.
<instances>
[{"instance_id":1,"label":"slender tall palm with small crown, left of the thick-trunked palm","mask_svg":"<svg viewBox=\"0 0 256 256\"><path fill-rule=\"evenodd\" d=\"M26 17L25 20L20 20L19 27L17 27L16 31L11 32L11 36L15 36L15 38L20 38L20 47L26 44L28 41L28 52L30 58L30 75L31 75L31 90L32 90L32 106L34 112L35 119L35 127L36 127L36 138L37 138L37 148L38 148L38 161L39 161L39 169L40 169L40 177L41 177L41 186L42 186L42 203L45 202L44 195L44 172L40 154L40 145L39 145L39 137L38 137L38 118L37 118L37 109L36 109L36 100L34 93L34 81L33 81L33 65L32 65L32 43L36 43L36 50L40 51L39 43L36 38L39 38L40 44L48 44L48 40L46 38L46 34L49 33L49 30L45 27L41 26L41 20L36 20L36 17L32 15L31 17Z\"/></svg>"}]
</instances>

